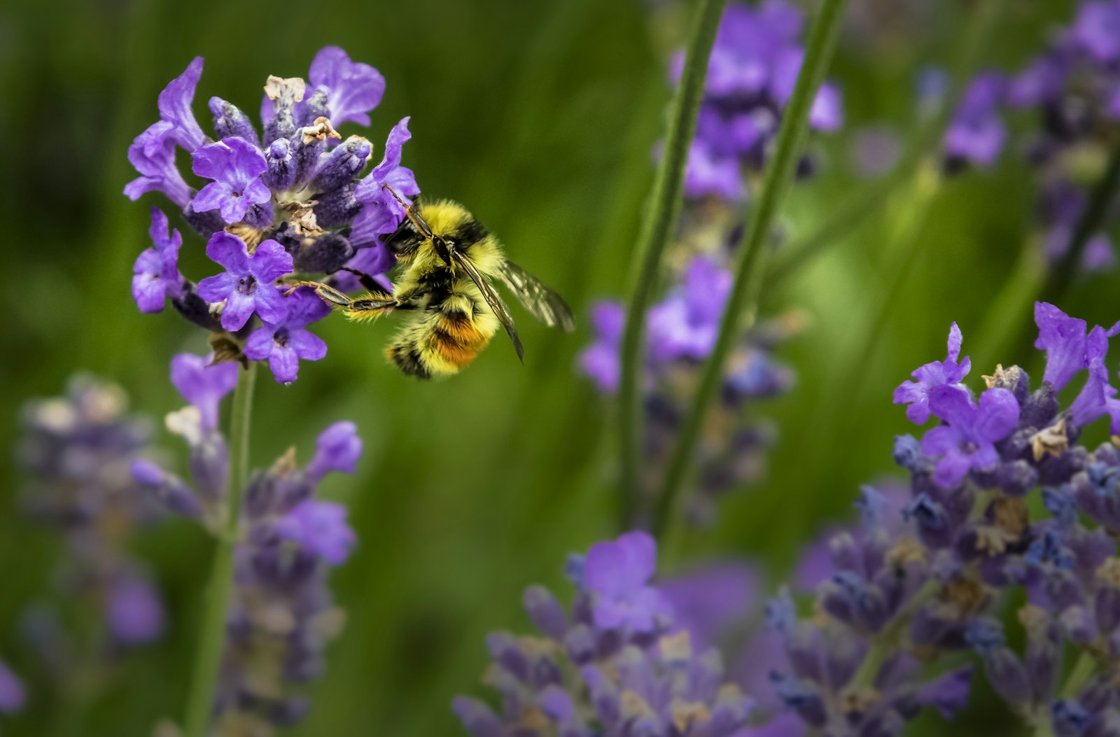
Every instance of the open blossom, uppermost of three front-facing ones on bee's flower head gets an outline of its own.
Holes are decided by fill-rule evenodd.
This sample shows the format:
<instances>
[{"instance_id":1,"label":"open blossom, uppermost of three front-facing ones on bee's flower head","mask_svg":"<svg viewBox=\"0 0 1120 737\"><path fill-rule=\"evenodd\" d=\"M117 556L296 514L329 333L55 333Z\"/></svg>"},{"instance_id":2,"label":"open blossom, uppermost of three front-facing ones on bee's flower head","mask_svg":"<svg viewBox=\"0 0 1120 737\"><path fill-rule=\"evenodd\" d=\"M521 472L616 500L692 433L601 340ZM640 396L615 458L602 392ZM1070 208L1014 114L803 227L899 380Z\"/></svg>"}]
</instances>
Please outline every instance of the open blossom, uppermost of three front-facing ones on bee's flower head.
<instances>
[{"instance_id":1,"label":"open blossom, uppermost of three front-facing ones on bee's flower head","mask_svg":"<svg viewBox=\"0 0 1120 737\"><path fill-rule=\"evenodd\" d=\"M237 223L252 205L263 205L272 193L261 181L269 168L264 153L246 140L223 138L194 152L193 170L213 179L190 203L195 212L217 209L226 223Z\"/></svg>"}]
</instances>

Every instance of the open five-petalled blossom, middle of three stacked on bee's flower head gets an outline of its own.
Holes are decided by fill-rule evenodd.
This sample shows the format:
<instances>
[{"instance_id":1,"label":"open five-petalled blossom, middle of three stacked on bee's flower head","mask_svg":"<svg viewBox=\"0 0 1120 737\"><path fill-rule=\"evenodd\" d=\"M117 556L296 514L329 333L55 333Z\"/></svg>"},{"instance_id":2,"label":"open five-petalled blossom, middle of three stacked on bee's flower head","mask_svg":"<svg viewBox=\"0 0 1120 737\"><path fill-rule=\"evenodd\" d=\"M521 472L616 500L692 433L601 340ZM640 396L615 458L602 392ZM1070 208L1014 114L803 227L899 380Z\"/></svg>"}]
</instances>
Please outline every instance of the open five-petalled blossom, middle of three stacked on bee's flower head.
<instances>
[{"instance_id":1,"label":"open five-petalled blossom, middle of three stacked on bee's flower head","mask_svg":"<svg viewBox=\"0 0 1120 737\"><path fill-rule=\"evenodd\" d=\"M292 271L292 259L276 241L264 241L250 255L245 242L218 231L206 244L206 255L225 267L225 273L198 282L198 295L209 302L225 302L222 327L240 330L253 312L267 323L279 324L288 306L273 282Z\"/></svg>"}]
</instances>

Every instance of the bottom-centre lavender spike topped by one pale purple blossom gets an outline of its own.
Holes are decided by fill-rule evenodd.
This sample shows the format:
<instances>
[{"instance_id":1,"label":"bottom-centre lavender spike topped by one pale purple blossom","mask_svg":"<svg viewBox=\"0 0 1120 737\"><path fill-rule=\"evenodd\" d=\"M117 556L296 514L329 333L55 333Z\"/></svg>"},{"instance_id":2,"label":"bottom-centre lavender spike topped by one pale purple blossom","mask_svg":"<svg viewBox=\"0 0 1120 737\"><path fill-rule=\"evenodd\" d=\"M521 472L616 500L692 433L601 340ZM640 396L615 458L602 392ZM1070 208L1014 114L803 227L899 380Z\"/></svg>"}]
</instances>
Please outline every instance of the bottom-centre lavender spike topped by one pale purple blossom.
<instances>
[{"instance_id":1,"label":"bottom-centre lavender spike topped by one pale purple blossom","mask_svg":"<svg viewBox=\"0 0 1120 737\"><path fill-rule=\"evenodd\" d=\"M533 586L525 610L540 636L497 632L487 684L502 694L495 712L459 697L455 712L475 737L623 737L741 734L753 708L724 681L718 651L697 652L669 599L650 584L656 545L643 532L591 547L569 569L576 600L566 612Z\"/></svg>"}]
</instances>

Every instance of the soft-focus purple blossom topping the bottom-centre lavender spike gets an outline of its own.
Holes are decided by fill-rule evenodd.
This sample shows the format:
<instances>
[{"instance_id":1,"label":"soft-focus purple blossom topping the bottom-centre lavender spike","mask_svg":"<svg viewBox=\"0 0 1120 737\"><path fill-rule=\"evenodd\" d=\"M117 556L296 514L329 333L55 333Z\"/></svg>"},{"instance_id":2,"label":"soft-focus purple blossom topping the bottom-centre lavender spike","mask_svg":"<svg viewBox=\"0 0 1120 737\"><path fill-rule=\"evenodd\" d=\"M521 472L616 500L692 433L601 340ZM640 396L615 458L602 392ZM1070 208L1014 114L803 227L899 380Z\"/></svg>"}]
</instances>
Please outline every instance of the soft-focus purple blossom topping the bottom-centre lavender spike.
<instances>
[{"instance_id":1,"label":"soft-focus purple blossom topping the bottom-centre lavender spike","mask_svg":"<svg viewBox=\"0 0 1120 737\"><path fill-rule=\"evenodd\" d=\"M644 532L598 542L587 552L584 585L594 591L595 626L651 632L671 610L664 595L648 585L657 566L657 543Z\"/></svg>"}]
</instances>

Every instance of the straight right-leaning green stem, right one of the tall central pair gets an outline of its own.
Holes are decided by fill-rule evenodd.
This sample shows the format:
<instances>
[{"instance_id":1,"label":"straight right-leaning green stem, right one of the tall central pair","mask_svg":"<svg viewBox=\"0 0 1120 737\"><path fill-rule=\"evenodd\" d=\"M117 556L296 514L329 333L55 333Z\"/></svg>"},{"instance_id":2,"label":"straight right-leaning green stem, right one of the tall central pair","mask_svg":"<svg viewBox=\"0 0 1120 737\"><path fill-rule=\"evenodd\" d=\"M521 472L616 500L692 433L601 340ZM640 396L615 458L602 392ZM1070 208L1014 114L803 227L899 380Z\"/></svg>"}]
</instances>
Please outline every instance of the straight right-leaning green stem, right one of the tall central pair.
<instances>
[{"instance_id":1,"label":"straight right-leaning green stem, right one of the tall central pair","mask_svg":"<svg viewBox=\"0 0 1120 737\"><path fill-rule=\"evenodd\" d=\"M847 0L824 0L810 30L805 59L797 74L793 96L782 115L774 156L766 168L762 193L749 218L749 230L736 265L735 284L724 308L719 336L711 356L704 364L700 386L693 397L656 500L653 531L659 538L664 537L666 528L675 516L676 497L684 484L684 476L699 440L708 407L719 391L724 364L739 335L740 320L745 319L747 323L754 320L771 226L793 177L809 128L809 110L832 60L832 52L840 32L840 20L847 4Z\"/></svg>"}]
</instances>

